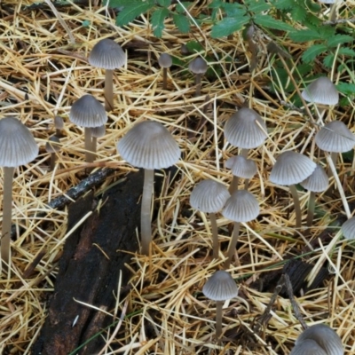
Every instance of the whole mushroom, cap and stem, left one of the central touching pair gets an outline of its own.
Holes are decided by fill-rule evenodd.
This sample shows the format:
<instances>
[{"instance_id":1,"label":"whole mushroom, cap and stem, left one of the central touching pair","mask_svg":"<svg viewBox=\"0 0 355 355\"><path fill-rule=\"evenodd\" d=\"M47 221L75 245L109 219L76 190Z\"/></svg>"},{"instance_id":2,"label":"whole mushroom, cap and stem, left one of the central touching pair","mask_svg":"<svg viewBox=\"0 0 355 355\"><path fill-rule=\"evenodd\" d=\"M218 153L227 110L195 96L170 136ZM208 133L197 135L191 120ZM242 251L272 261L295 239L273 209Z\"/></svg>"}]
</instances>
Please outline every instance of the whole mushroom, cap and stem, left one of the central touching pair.
<instances>
[{"instance_id":1,"label":"whole mushroom, cap and stem, left one of the central touching pair","mask_svg":"<svg viewBox=\"0 0 355 355\"><path fill-rule=\"evenodd\" d=\"M193 209L209 213L212 227L212 247L213 257L218 258L219 244L216 213L223 209L225 201L230 197L230 193L225 185L214 180L203 180L193 188L190 196L190 204Z\"/></svg>"}]
</instances>

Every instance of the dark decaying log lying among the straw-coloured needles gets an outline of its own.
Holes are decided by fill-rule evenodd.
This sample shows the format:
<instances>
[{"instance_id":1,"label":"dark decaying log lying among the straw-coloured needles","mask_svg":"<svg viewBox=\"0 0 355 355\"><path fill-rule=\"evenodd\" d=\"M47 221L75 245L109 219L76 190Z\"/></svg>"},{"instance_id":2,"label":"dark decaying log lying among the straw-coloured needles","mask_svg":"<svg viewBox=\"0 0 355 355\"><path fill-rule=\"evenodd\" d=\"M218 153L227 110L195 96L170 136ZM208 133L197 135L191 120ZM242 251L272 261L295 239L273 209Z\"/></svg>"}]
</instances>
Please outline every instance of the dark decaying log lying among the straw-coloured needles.
<instances>
[{"instance_id":1,"label":"dark decaying log lying among the straw-coloured needles","mask_svg":"<svg viewBox=\"0 0 355 355\"><path fill-rule=\"evenodd\" d=\"M48 316L33 354L68 355L113 322L112 317L75 300L113 311L120 271L124 286L130 279L124 264L130 263L130 252L138 250L142 186L143 174L130 174L100 198L101 205L90 193L69 207L67 231L93 212L65 243ZM97 336L75 354L98 353L104 344Z\"/></svg>"}]
</instances>

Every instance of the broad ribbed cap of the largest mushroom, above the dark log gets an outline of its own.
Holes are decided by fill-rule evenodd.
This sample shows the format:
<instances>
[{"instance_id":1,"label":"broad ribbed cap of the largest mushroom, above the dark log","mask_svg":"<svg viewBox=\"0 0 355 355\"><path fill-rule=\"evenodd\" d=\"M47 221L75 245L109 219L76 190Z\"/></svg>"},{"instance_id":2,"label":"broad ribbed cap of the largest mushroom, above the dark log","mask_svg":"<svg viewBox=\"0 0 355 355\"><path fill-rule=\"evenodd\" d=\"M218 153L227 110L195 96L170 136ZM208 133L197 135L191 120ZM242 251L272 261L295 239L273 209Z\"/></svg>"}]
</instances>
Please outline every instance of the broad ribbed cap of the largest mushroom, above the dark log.
<instances>
[{"instance_id":1,"label":"broad ribbed cap of the largest mushroom, above the dark log","mask_svg":"<svg viewBox=\"0 0 355 355\"><path fill-rule=\"evenodd\" d=\"M164 169L180 158L180 149L162 123L139 122L117 144L122 158L131 165L148 170Z\"/></svg>"}]
</instances>

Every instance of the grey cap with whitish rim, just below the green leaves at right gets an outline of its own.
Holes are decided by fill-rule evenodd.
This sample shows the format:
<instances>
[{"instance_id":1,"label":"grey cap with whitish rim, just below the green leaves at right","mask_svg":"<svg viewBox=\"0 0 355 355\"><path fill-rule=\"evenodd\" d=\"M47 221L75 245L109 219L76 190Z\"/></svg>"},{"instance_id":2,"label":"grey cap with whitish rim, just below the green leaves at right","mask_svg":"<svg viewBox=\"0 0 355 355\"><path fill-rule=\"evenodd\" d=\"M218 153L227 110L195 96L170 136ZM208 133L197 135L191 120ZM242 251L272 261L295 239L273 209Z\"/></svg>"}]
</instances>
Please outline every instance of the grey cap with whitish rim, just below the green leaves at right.
<instances>
[{"instance_id":1,"label":"grey cap with whitish rim, just below the green leaves at right","mask_svg":"<svg viewBox=\"0 0 355 355\"><path fill-rule=\"evenodd\" d=\"M301 95L306 101L314 104L330 106L339 102L339 92L327 76L320 76L314 80L302 91Z\"/></svg>"}]
</instances>

